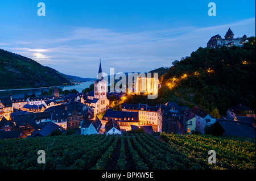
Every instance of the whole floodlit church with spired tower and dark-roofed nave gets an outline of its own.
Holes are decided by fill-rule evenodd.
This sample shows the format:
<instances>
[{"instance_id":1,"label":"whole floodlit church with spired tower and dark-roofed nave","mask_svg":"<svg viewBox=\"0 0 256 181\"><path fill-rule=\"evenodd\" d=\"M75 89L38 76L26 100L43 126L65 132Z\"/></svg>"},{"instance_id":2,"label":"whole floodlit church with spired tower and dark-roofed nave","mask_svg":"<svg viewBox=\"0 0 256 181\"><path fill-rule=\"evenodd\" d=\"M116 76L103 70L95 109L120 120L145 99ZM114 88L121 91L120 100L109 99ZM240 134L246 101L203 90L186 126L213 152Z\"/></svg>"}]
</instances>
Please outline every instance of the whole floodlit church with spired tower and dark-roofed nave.
<instances>
[{"instance_id":1,"label":"whole floodlit church with spired tower and dark-roofed nave","mask_svg":"<svg viewBox=\"0 0 256 181\"><path fill-rule=\"evenodd\" d=\"M107 98L107 83L108 82L103 80L100 61L97 81L94 81L94 91L90 91L87 96L81 97L81 103L92 107L94 115L106 111L107 106L109 106L109 100Z\"/></svg>"}]
</instances>

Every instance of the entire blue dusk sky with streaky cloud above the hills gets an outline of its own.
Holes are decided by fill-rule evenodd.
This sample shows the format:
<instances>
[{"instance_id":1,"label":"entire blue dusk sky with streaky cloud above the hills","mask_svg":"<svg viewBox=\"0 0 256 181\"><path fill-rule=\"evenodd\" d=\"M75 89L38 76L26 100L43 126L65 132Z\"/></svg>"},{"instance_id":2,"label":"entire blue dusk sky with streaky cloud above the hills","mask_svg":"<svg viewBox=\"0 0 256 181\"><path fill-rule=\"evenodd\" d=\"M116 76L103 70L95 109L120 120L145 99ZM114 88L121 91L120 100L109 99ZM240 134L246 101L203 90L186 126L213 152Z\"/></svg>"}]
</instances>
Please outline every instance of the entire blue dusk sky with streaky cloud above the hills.
<instances>
[{"instance_id":1,"label":"entire blue dusk sky with streaky cloud above the hills","mask_svg":"<svg viewBox=\"0 0 256 181\"><path fill-rule=\"evenodd\" d=\"M100 58L107 74L170 67L229 27L255 36L255 1L0 1L1 49L79 77L96 77Z\"/></svg>"}]
</instances>

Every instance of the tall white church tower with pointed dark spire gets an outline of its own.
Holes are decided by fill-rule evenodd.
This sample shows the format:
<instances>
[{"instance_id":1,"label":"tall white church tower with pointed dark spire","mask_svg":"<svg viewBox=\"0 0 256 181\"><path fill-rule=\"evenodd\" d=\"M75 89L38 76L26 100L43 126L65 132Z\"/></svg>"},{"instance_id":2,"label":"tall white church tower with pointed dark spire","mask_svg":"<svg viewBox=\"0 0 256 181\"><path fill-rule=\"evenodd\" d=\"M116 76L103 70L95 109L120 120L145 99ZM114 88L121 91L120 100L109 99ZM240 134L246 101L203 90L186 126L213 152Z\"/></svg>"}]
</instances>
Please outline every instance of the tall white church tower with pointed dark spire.
<instances>
[{"instance_id":1,"label":"tall white church tower with pointed dark spire","mask_svg":"<svg viewBox=\"0 0 256 181\"><path fill-rule=\"evenodd\" d=\"M109 105L107 98L107 82L103 80L101 60L100 67L98 69L97 81L94 81L94 99L98 99L98 104L95 108L95 112L101 113L106 111L106 106Z\"/></svg>"}]
</instances>

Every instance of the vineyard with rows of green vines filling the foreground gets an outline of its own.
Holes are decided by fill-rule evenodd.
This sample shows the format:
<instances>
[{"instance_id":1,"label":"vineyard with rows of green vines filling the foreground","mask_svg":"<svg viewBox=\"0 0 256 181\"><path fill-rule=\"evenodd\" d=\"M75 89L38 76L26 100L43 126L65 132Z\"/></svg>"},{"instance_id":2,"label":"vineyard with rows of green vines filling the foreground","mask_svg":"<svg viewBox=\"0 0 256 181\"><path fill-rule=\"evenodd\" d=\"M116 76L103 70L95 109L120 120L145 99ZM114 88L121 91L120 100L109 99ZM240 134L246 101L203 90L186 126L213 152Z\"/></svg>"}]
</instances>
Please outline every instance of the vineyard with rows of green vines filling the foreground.
<instances>
[{"instance_id":1,"label":"vineyard with rows of green vines filling the foreground","mask_svg":"<svg viewBox=\"0 0 256 181\"><path fill-rule=\"evenodd\" d=\"M37 162L38 150L46 163ZM216 163L208 163L208 151ZM0 140L0 169L255 169L255 143L207 135L137 133Z\"/></svg>"}]
</instances>

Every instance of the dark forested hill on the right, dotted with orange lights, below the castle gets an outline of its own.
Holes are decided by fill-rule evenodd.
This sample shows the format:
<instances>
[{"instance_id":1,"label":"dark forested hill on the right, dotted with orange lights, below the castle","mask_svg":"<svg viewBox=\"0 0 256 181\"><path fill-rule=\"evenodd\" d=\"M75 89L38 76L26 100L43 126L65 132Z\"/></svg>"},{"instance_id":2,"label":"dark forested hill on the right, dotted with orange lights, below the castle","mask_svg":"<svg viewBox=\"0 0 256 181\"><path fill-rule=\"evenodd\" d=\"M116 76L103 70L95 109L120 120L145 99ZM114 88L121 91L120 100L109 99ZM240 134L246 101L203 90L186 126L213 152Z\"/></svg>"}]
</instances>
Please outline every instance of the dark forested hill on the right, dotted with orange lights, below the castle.
<instances>
[{"instance_id":1,"label":"dark forested hill on the right, dotted with orange lights, below the castle","mask_svg":"<svg viewBox=\"0 0 256 181\"><path fill-rule=\"evenodd\" d=\"M136 96L127 103L156 104L176 101L201 106L223 115L230 106L245 104L255 109L255 37L244 47L199 48L191 56L174 61L160 78L157 99ZM145 96L146 97L146 96Z\"/></svg>"}]
</instances>

